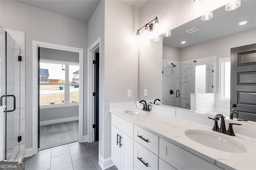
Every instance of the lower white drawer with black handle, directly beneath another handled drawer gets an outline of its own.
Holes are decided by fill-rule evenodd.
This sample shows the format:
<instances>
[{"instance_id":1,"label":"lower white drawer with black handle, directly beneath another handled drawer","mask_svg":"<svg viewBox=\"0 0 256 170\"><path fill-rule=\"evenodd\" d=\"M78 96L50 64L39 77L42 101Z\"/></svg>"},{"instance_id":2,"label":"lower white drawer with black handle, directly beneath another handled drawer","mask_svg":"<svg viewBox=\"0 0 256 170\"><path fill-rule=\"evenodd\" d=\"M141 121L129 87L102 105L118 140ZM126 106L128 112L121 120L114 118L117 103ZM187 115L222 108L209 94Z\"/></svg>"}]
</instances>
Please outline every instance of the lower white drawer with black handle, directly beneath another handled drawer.
<instances>
[{"instance_id":1,"label":"lower white drawer with black handle, directly beneath another handled drawer","mask_svg":"<svg viewBox=\"0 0 256 170\"><path fill-rule=\"evenodd\" d=\"M139 170L158 169L158 157L134 141L134 165Z\"/></svg>"}]
</instances>

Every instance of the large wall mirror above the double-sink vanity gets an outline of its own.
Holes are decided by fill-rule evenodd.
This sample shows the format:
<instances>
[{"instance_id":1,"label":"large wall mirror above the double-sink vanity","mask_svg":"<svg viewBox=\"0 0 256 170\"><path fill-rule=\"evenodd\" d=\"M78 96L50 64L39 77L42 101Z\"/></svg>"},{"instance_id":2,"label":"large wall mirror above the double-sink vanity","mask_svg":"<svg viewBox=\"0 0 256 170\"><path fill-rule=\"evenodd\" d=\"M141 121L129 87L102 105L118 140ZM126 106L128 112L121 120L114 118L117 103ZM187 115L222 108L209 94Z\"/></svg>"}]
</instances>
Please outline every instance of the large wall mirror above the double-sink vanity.
<instances>
[{"instance_id":1,"label":"large wall mirror above the double-sink vanity","mask_svg":"<svg viewBox=\"0 0 256 170\"><path fill-rule=\"evenodd\" d=\"M142 43L139 99L227 118L236 109L236 120L256 121L255 18L256 1L242 1L236 10L223 6L209 20L196 18L158 42ZM246 65L238 67L241 52ZM238 75L246 81L242 89Z\"/></svg>"}]
</instances>

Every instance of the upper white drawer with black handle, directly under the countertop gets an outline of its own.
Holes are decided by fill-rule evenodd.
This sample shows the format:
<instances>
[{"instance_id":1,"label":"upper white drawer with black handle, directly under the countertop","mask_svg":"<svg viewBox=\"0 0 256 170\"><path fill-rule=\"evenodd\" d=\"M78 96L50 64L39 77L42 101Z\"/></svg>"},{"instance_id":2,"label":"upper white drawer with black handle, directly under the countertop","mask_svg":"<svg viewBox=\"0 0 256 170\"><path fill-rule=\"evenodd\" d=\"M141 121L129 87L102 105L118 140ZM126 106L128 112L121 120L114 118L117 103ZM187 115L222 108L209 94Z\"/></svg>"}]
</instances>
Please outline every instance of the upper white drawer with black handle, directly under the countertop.
<instances>
[{"instance_id":1,"label":"upper white drawer with black handle, directly under the countertop","mask_svg":"<svg viewBox=\"0 0 256 170\"><path fill-rule=\"evenodd\" d=\"M158 136L134 125L134 140L158 155Z\"/></svg>"}]
</instances>

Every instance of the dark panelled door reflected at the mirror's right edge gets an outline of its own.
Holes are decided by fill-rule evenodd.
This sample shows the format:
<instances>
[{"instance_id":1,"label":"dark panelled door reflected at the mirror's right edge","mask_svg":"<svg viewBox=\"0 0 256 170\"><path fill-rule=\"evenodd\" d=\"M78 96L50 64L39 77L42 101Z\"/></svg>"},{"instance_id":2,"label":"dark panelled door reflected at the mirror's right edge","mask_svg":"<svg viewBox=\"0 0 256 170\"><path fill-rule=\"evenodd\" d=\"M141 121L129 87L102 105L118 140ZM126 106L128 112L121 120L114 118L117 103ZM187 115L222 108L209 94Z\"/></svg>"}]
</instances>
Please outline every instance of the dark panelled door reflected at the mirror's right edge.
<instances>
[{"instance_id":1,"label":"dark panelled door reflected at the mirror's right edge","mask_svg":"<svg viewBox=\"0 0 256 170\"><path fill-rule=\"evenodd\" d=\"M256 121L256 43L231 49L230 109L234 117Z\"/></svg>"}]
</instances>

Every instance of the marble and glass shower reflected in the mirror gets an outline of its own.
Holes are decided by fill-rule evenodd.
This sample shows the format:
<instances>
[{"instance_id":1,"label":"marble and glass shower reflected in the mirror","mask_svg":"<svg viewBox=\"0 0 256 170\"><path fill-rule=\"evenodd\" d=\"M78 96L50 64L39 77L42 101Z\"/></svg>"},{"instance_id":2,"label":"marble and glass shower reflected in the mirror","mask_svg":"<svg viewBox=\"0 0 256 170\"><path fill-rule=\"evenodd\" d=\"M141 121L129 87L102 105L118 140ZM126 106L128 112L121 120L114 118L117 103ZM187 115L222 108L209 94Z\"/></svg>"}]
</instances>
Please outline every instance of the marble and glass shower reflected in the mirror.
<instances>
[{"instance_id":1,"label":"marble and glass shower reflected in the mirror","mask_svg":"<svg viewBox=\"0 0 256 170\"><path fill-rule=\"evenodd\" d=\"M190 94L213 93L213 65L163 59L162 104L190 109Z\"/></svg>"}]
</instances>

